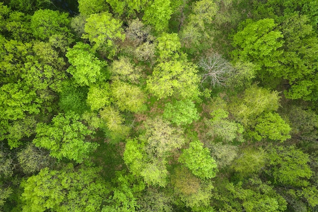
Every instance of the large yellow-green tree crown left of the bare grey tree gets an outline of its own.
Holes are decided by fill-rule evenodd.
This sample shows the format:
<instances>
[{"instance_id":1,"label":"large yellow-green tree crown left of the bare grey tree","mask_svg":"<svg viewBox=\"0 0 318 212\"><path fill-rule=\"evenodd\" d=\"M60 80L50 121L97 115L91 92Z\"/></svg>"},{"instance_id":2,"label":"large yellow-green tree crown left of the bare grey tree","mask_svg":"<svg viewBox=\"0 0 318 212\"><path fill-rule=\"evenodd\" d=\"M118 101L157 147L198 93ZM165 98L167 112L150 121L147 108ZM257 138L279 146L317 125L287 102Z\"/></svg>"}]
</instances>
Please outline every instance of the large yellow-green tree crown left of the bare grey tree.
<instances>
[{"instance_id":1,"label":"large yellow-green tree crown left of the bare grey tree","mask_svg":"<svg viewBox=\"0 0 318 212\"><path fill-rule=\"evenodd\" d=\"M174 96L196 99L200 93L196 65L172 60L157 64L147 80L147 89L158 99Z\"/></svg>"}]
</instances>

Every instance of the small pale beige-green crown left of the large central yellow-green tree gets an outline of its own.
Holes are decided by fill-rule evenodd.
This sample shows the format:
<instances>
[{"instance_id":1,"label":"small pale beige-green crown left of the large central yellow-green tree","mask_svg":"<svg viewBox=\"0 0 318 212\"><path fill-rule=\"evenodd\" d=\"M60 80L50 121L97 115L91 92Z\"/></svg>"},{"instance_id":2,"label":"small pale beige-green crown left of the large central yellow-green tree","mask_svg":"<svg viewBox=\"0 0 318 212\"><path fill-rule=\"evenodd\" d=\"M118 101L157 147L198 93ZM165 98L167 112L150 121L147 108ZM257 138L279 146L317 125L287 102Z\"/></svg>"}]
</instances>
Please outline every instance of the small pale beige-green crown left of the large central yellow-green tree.
<instances>
[{"instance_id":1,"label":"small pale beige-green crown left of the large central yellow-green tree","mask_svg":"<svg viewBox=\"0 0 318 212\"><path fill-rule=\"evenodd\" d=\"M135 67L128 57L120 57L112 63L111 73L112 79L119 79L121 81L128 81L131 83L138 83L140 70Z\"/></svg>"}]
</instances>

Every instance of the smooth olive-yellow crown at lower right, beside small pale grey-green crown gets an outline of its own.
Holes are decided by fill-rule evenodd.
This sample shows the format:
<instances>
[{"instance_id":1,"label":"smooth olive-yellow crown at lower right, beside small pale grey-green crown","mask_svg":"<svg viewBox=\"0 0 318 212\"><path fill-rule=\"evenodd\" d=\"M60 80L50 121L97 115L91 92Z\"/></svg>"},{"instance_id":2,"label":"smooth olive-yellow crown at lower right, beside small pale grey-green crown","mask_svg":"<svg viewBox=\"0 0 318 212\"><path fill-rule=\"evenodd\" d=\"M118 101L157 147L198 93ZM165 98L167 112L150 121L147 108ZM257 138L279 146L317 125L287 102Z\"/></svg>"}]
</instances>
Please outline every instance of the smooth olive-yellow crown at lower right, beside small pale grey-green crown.
<instances>
[{"instance_id":1,"label":"smooth olive-yellow crown at lower right, beside small pale grey-green crown","mask_svg":"<svg viewBox=\"0 0 318 212\"><path fill-rule=\"evenodd\" d=\"M233 169L242 176L260 172L267 162L267 154L263 149L247 148L233 162Z\"/></svg>"}]
</instances>

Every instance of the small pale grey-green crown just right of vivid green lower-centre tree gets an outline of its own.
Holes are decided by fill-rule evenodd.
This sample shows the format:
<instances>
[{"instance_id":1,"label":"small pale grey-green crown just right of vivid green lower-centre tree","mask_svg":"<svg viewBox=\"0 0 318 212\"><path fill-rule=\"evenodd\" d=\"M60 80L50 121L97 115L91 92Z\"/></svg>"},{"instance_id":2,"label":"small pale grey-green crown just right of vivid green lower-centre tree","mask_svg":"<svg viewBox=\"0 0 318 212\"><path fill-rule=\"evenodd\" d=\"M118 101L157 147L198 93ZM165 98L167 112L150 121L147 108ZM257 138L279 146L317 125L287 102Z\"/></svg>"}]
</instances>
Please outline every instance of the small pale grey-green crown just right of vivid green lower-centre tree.
<instances>
[{"instance_id":1,"label":"small pale grey-green crown just right of vivid green lower-centre tree","mask_svg":"<svg viewBox=\"0 0 318 212\"><path fill-rule=\"evenodd\" d=\"M215 159L218 168L230 165L238 154L238 147L229 144L211 144L210 149L211 156Z\"/></svg>"}]
</instances>

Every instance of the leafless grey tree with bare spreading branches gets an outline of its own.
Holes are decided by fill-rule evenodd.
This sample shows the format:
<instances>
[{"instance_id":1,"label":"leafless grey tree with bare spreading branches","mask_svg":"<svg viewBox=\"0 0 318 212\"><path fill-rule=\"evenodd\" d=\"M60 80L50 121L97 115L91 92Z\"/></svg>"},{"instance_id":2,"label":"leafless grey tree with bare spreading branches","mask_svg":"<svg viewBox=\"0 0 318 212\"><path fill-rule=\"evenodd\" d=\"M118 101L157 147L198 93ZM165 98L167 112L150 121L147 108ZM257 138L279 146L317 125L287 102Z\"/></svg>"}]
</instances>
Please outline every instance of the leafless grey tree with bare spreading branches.
<instances>
[{"instance_id":1,"label":"leafless grey tree with bare spreading branches","mask_svg":"<svg viewBox=\"0 0 318 212\"><path fill-rule=\"evenodd\" d=\"M201 58L198 67L204 70L201 86L206 81L213 87L216 85L225 86L225 81L234 73L231 63L217 53Z\"/></svg>"}]
</instances>

